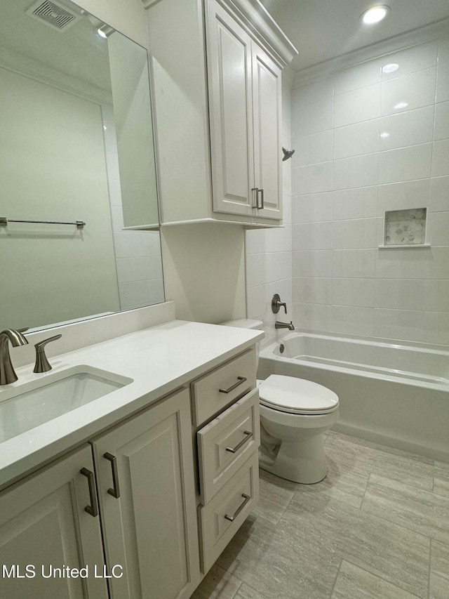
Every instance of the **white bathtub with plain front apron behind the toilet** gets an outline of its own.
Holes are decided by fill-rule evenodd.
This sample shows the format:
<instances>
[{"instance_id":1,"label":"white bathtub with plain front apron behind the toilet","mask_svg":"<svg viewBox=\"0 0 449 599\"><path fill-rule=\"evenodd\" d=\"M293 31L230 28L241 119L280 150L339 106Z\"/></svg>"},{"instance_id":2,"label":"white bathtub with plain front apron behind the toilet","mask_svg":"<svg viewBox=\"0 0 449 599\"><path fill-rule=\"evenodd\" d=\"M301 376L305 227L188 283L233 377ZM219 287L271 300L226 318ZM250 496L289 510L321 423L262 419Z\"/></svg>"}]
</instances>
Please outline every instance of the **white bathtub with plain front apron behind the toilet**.
<instances>
[{"instance_id":1,"label":"white bathtub with plain front apron behind the toilet","mask_svg":"<svg viewBox=\"0 0 449 599\"><path fill-rule=\"evenodd\" d=\"M269 374L335 391L335 430L449 462L448 351L295 332L260 352L257 377Z\"/></svg>"}]
</instances>

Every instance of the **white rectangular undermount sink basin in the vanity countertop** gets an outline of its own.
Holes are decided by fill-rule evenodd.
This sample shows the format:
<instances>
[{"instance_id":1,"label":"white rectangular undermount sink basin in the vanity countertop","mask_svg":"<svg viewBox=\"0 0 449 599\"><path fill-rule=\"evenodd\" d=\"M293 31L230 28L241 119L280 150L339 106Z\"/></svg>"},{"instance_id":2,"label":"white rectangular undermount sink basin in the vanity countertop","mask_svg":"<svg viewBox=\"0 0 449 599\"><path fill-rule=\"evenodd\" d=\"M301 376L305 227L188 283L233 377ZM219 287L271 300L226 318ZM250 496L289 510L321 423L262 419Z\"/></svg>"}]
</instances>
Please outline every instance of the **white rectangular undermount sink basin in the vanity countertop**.
<instances>
[{"instance_id":1,"label":"white rectangular undermount sink basin in the vanity countertop","mask_svg":"<svg viewBox=\"0 0 449 599\"><path fill-rule=\"evenodd\" d=\"M98 400L133 379L88 366L0 390L0 442Z\"/></svg>"}]
</instances>

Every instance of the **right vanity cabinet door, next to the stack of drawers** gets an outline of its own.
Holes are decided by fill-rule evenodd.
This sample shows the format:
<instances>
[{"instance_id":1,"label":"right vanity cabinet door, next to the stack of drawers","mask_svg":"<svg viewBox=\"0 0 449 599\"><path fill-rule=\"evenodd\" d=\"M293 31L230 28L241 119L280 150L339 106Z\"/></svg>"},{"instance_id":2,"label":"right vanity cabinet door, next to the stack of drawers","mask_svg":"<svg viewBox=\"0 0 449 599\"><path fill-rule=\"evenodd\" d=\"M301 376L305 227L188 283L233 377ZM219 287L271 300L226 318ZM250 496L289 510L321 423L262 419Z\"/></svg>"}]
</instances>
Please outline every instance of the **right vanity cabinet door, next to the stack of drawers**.
<instances>
[{"instance_id":1,"label":"right vanity cabinet door, next to the stack of drawers","mask_svg":"<svg viewBox=\"0 0 449 599\"><path fill-rule=\"evenodd\" d=\"M186 389L93 442L113 599L189 597L199 584L190 398Z\"/></svg>"}]
</instances>

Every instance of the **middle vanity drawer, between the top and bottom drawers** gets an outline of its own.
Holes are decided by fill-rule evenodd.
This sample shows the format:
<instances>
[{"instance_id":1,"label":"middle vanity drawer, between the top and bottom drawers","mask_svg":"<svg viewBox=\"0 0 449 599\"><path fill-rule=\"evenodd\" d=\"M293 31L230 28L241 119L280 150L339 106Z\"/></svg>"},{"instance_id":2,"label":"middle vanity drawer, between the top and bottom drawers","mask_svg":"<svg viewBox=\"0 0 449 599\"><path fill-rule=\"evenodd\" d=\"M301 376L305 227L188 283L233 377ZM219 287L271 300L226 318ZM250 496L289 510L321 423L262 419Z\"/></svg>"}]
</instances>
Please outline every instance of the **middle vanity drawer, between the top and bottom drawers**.
<instances>
[{"instance_id":1,"label":"middle vanity drawer, between the top and bottom drawers","mask_svg":"<svg viewBox=\"0 0 449 599\"><path fill-rule=\"evenodd\" d=\"M259 391L253 389L196 433L205 505L260 445Z\"/></svg>"}]
</instances>

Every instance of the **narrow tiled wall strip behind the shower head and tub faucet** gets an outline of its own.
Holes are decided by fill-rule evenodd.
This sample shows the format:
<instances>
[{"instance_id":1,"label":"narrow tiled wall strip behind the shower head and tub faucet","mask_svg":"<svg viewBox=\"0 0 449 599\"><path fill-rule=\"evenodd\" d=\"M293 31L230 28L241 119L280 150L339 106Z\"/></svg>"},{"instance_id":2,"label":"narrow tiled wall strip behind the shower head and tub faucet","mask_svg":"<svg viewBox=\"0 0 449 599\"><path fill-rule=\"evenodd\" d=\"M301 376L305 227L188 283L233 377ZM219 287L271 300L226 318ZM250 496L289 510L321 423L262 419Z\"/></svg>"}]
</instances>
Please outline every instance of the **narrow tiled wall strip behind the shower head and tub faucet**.
<instances>
[{"instance_id":1,"label":"narrow tiled wall strip behind the shower head and tub faucet","mask_svg":"<svg viewBox=\"0 0 449 599\"><path fill-rule=\"evenodd\" d=\"M282 73L282 145L292 147L290 70ZM280 150L280 149L279 149ZM265 324L264 343L274 337L274 321L293 318L292 296L292 159L283 162L283 228L246 231L246 310L248 318ZM274 315L272 297L288 304Z\"/></svg>"}]
</instances>

